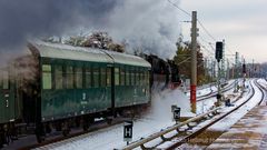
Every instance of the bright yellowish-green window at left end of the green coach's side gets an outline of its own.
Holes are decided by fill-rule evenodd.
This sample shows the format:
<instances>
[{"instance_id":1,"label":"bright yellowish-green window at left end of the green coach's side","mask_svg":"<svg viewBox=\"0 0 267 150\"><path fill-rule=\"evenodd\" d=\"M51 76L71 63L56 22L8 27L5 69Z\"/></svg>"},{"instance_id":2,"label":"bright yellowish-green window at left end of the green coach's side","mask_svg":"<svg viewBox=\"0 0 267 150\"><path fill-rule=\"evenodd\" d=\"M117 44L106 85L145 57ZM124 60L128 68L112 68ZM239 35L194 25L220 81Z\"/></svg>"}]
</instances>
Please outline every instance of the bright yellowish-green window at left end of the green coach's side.
<instances>
[{"instance_id":1,"label":"bright yellowish-green window at left end of the green coach's side","mask_svg":"<svg viewBox=\"0 0 267 150\"><path fill-rule=\"evenodd\" d=\"M42 89L49 90L52 89L52 76L51 76L51 66L42 66Z\"/></svg>"}]
</instances>

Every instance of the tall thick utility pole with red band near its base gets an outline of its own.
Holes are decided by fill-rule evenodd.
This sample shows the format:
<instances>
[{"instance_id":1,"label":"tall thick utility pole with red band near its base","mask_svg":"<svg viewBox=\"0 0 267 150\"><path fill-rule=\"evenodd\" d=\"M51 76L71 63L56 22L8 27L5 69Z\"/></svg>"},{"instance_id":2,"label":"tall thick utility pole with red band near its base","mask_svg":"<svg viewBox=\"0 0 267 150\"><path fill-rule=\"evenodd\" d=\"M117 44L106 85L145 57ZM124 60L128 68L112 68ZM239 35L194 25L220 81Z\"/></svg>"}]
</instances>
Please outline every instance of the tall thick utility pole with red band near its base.
<instances>
[{"instance_id":1,"label":"tall thick utility pole with red band near its base","mask_svg":"<svg viewBox=\"0 0 267 150\"><path fill-rule=\"evenodd\" d=\"M197 109L197 11L192 11L191 16L191 90L190 102L191 112L196 113Z\"/></svg>"}]
</instances>

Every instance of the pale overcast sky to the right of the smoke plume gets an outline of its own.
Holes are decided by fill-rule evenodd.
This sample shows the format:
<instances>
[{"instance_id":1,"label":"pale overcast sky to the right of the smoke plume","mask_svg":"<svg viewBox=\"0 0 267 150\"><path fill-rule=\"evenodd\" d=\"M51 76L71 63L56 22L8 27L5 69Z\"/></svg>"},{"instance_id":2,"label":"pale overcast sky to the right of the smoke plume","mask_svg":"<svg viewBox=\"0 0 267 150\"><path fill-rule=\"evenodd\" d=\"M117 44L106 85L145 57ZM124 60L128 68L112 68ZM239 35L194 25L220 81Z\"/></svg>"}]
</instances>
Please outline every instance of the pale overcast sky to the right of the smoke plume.
<instances>
[{"instance_id":1,"label":"pale overcast sky to the right of the smoke plume","mask_svg":"<svg viewBox=\"0 0 267 150\"><path fill-rule=\"evenodd\" d=\"M238 51L248 61L267 61L267 0L181 0L179 7L189 12L196 10L208 31L216 40L225 39L230 51ZM189 19L179 16L181 21ZM181 26L185 37L188 26ZM214 42L199 24L198 28L201 38ZM198 39L204 44L201 38Z\"/></svg>"}]
</instances>

